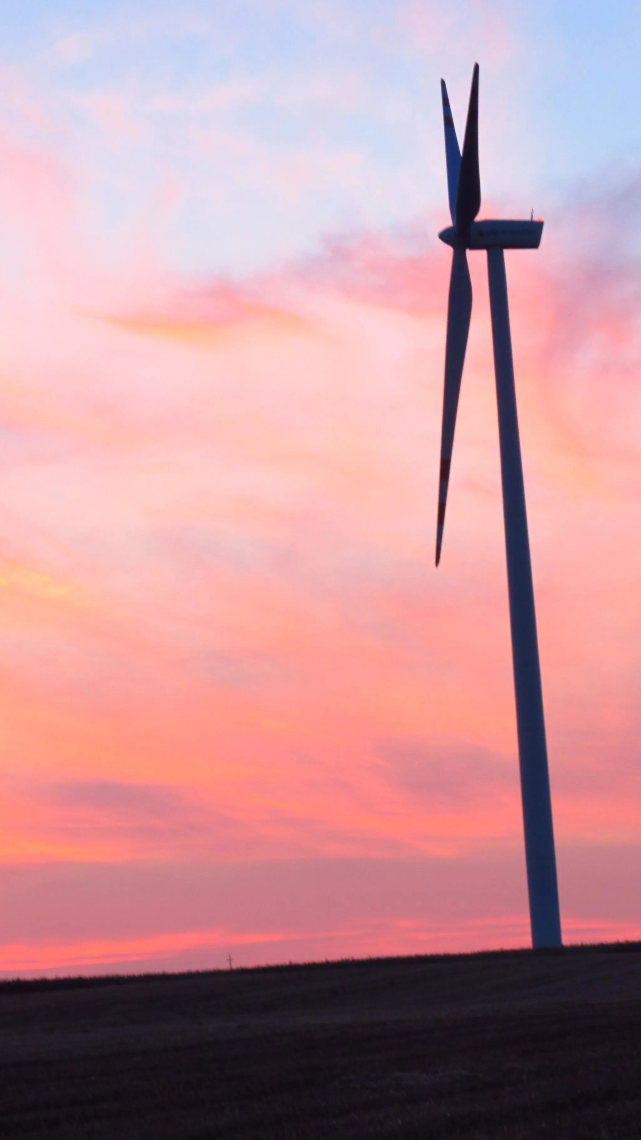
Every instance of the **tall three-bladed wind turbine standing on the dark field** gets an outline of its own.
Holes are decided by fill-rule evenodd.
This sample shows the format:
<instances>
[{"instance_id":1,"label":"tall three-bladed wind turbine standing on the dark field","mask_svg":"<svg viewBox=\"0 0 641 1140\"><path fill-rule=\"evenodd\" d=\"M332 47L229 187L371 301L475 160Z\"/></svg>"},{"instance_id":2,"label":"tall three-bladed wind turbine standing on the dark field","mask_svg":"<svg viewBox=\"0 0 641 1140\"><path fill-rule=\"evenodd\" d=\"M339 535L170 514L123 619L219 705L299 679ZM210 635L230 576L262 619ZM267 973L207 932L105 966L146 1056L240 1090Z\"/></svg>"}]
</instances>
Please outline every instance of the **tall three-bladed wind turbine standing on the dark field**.
<instances>
[{"instance_id":1,"label":"tall three-bladed wind turbine standing on the dark field","mask_svg":"<svg viewBox=\"0 0 641 1140\"><path fill-rule=\"evenodd\" d=\"M474 221L480 209L479 65L474 64L472 76L463 154L459 149L447 88L443 80L440 88L447 190L453 225L438 236L441 242L452 246L453 255L445 349L436 564L440 561L456 408L472 312L466 250L487 250L532 944L535 947L560 946L561 919L552 801L503 256L503 250L538 249L543 222Z\"/></svg>"}]
</instances>

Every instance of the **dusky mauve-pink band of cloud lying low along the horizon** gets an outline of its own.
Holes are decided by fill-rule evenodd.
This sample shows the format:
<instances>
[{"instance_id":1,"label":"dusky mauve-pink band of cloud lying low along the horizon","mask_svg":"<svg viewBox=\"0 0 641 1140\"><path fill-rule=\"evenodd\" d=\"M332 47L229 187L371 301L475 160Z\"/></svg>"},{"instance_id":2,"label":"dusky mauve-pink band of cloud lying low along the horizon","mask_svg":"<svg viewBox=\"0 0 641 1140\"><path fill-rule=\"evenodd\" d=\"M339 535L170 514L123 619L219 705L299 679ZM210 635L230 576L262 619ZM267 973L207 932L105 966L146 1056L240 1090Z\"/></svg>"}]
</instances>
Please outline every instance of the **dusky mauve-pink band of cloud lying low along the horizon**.
<instances>
[{"instance_id":1,"label":"dusky mauve-pink band of cloud lying low along the horizon","mask_svg":"<svg viewBox=\"0 0 641 1140\"><path fill-rule=\"evenodd\" d=\"M567 942L639 936L638 848L561 847L559 862ZM41 863L2 869L0 901L5 976L528 943L522 855L505 848L473 860Z\"/></svg>"}]
</instances>

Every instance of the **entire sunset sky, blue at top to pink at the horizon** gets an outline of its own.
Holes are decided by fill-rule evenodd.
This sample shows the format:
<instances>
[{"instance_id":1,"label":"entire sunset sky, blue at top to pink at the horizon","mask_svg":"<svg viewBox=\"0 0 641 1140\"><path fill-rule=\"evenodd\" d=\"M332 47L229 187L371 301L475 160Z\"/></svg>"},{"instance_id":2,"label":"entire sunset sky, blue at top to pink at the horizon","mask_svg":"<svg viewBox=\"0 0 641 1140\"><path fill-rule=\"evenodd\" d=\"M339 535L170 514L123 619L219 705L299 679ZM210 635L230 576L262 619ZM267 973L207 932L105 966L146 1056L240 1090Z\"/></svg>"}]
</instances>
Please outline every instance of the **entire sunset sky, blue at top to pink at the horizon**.
<instances>
[{"instance_id":1,"label":"entire sunset sky, blue at top to pink at the horizon","mask_svg":"<svg viewBox=\"0 0 641 1140\"><path fill-rule=\"evenodd\" d=\"M0 15L0 976L528 945L474 60L563 938L641 937L639 6Z\"/></svg>"}]
</instances>

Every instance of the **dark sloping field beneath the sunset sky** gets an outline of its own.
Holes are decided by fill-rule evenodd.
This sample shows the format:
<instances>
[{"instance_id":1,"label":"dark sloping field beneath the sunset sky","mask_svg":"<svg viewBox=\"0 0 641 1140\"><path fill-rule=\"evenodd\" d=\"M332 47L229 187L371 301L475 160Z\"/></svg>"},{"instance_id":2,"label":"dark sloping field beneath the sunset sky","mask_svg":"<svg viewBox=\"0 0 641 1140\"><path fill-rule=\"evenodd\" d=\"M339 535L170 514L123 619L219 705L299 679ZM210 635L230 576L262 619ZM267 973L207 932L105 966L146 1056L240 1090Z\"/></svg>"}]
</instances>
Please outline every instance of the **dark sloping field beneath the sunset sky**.
<instances>
[{"instance_id":1,"label":"dark sloping field beneath the sunset sky","mask_svg":"<svg viewBox=\"0 0 641 1140\"><path fill-rule=\"evenodd\" d=\"M0 984L0 1137L641 1137L641 945Z\"/></svg>"}]
</instances>

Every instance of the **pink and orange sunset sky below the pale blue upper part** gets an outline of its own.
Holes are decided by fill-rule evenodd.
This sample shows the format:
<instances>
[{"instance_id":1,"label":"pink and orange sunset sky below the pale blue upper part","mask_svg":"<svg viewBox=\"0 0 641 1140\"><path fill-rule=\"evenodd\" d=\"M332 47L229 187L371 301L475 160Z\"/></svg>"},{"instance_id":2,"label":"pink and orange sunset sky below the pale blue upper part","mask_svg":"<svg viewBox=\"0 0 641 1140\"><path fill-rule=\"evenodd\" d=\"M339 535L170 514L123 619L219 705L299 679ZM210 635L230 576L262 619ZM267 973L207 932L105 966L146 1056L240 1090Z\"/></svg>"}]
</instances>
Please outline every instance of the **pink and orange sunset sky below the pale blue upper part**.
<instances>
[{"instance_id":1,"label":"pink and orange sunset sky below the pale blue upper part","mask_svg":"<svg viewBox=\"0 0 641 1140\"><path fill-rule=\"evenodd\" d=\"M59 140L0 141L0 972L526 945L482 255L436 571L440 215L179 272L96 229ZM566 940L641 936L640 291L603 217L508 264Z\"/></svg>"}]
</instances>

